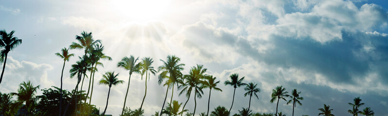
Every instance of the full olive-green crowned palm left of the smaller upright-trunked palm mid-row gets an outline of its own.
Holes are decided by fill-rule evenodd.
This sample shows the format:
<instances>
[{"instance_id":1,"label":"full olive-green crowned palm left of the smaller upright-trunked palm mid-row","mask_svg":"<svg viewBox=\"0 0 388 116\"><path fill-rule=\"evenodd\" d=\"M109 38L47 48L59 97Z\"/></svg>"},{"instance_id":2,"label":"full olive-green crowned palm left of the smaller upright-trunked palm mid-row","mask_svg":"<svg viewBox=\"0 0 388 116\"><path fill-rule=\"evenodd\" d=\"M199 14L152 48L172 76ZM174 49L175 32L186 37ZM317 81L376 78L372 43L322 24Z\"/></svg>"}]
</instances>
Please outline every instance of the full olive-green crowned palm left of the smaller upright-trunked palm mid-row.
<instances>
[{"instance_id":1,"label":"full olive-green crowned palm left of the smaller upright-trunked palm mid-row","mask_svg":"<svg viewBox=\"0 0 388 116\"><path fill-rule=\"evenodd\" d=\"M202 98L202 94L203 94L203 91L202 91L202 86L203 86L203 83L204 81L202 81L201 79L205 78L207 75L205 74L207 71L206 68L203 68L203 65L199 65L197 64L197 66L193 66L191 67L190 71L189 71L189 74L186 74L185 75L185 84L181 85L181 87L184 87L182 89L182 91L179 93L179 95L181 95L183 92L186 91L186 96L188 96L187 98L187 101L186 103L188 102L189 98L190 98L190 94L191 94L191 90L193 90L194 88L194 112L193 114L195 114L195 110L197 108L197 97L198 98ZM185 105L186 105L185 103ZM183 106L183 108L185 109L185 105Z\"/></svg>"}]
</instances>

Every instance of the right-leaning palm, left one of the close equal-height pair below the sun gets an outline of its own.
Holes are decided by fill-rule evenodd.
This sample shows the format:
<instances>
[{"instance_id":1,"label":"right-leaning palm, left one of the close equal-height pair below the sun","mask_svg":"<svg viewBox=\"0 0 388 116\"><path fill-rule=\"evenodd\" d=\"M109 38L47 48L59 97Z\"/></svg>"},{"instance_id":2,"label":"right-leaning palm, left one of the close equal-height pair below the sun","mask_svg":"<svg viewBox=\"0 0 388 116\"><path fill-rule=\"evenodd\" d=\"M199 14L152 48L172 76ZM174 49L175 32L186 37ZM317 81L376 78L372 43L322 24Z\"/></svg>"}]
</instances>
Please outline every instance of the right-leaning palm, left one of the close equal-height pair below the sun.
<instances>
[{"instance_id":1,"label":"right-leaning palm, left one of the close equal-height pair below the sun","mask_svg":"<svg viewBox=\"0 0 388 116\"><path fill-rule=\"evenodd\" d=\"M140 64L139 63L136 63L136 61L138 60L139 58L136 58L133 57L132 55L128 58L128 57L124 57L123 59L121 59L120 62L117 63L117 67L121 67L121 68L124 68L125 70L128 70L129 71L129 79L128 79L128 87L127 87L127 93L125 94L125 98L124 98L124 106L123 106L123 110L121 111L121 115L123 115L124 113L124 108L125 108L125 103L127 102L127 96L128 96L128 90L129 90L129 83L130 83L130 76L132 75L133 72L135 73L139 73L139 66Z\"/></svg>"}]
</instances>

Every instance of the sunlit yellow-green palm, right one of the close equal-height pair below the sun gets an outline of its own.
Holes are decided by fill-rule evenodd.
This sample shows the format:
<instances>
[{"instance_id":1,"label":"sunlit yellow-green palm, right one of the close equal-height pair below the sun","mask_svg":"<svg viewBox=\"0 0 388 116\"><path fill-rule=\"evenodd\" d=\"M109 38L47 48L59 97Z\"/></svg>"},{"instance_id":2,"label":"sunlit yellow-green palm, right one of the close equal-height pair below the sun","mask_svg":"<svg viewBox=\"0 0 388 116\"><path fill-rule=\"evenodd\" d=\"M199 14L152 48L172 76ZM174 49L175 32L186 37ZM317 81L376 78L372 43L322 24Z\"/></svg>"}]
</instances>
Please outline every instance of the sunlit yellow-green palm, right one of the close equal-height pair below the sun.
<instances>
[{"instance_id":1,"label":"sunlit yellow-green palm, right one of the close equal-height pair below the sun","mask_svg":"<svg viewBox=\"0 0 388 116\"><path fill-rule=\"evenodd\" d=\"M148 73L152 73L153 75L155 75L155 73L156 73L156 71L154 70L154 67L151 66L152 63L153 63L152 58L145 57L142 59L142 63L140 65L140 69L142 70L141 72L146 73L146 92L144 93L143 101L142 101L142 104L140 105L140 108L139 108L140 111L142 111L144 99L146 99L146 95L147 95L147 77L149 75ZM143 79L143 76L142 76L142 79Z\"/></svg>"}]
</instances>

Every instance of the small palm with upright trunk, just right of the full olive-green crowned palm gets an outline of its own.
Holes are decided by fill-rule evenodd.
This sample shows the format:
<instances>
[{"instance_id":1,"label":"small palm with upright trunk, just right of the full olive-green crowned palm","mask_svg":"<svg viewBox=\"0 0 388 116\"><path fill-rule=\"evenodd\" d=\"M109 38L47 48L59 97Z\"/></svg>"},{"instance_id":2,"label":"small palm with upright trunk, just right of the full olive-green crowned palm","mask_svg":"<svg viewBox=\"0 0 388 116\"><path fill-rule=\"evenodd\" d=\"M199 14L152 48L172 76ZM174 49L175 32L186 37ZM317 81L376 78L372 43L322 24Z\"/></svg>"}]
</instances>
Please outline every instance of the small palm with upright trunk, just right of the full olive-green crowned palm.
<instances>
[{"instance_id":1,"label":"small palm with upright trunk, just right of the full olive-green crowned palm","mask_svg":"<svg viewBox=\"0 0 388 116\"><path fill-rule=\"evenodd\" d=\"M217 84L220 83L220 81L215 81L216 77L213 77L213 75L206 76L206 81L203 82L203 88L209 88L209 100L207 101L207 114L206 116L209 116L209 105L210 105L210 95L211 95L211 89L214 88L214 90L221 91L221 88L217 87Z\"/></svg>"}]
</instances>

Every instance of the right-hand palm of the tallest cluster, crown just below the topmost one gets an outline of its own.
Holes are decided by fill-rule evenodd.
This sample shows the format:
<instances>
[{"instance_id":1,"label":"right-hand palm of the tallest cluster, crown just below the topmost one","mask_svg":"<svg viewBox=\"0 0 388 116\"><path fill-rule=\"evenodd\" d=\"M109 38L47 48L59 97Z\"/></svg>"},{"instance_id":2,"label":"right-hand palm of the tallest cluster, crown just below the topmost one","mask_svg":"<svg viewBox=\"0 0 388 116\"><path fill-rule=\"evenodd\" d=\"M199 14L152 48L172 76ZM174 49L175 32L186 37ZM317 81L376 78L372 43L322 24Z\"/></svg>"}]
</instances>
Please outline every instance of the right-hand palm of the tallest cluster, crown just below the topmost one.
<instances>
[{"instance_id":1,"label":"right-hand palm of the tallest cluster, crown just below the topmost one","mask_svg":"<svg viewBox=\"0 0 388 116\"><path fill-rule=\"evenodd\" d=\"M104 67L104 65L101 62L99 62L100 59L107 59L110 61L112 60L111 57L105 55L102 52L102 51L104 51L104 46L99 45L99 44L95 44L93 48L94 49L91 50L91 60L92 60L92 64L94 64L94 68L91 68L92 72L93 72L93 76L92 76L92 72L91 72L92 90L90 91L89 105L91 105L91 102L92 102L93 87L94 87L94 73L98 72L97 65ZM89 80L89 88L90 88L90 85L91 85L91 82ZM89 88L88 88L88 93L89 93Z\"/></svg>"}]
</instances>

